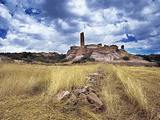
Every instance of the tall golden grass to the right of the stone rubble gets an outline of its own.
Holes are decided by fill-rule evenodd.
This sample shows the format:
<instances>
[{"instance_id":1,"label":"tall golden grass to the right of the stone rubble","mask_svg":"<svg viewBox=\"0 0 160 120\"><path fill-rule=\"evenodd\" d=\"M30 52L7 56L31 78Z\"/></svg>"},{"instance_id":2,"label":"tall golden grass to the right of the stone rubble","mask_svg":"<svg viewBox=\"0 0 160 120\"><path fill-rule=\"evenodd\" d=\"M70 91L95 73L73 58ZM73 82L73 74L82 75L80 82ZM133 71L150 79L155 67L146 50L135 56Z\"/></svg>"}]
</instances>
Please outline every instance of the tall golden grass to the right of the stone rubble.
<instances>
[{"instance_id":1,"label":"tall golden grass to the right of the stone rubble","mask_svg":"<svg viewBox=\"0 0 160 120\"><path fill-rule=\"evenodd\" d=\"M101 65L101 68L106 73L102 95L109 116L123 119L124 113L136 109L137 112L133 112L128 119L139 119L138 110L146 111L146 119L158 114L156 108L160 101L160 68L118 65Z\"/></svg>"}]
</instances>

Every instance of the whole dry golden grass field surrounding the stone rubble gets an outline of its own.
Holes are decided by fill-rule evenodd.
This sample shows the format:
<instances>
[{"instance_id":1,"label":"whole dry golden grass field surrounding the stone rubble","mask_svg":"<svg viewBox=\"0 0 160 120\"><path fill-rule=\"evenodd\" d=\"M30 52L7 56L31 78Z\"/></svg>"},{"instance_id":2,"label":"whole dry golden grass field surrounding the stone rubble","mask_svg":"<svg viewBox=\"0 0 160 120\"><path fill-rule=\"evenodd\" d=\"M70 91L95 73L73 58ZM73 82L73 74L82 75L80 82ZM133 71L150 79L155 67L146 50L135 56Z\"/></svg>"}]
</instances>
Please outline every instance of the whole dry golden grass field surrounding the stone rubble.
<instances>
[{"instance_id":1,"label":"whole dry golden grass field surrounding the stone rubble","mask_svg":"<svg viewBox=\"0 0 160 120\"><path fill-rule=\"evenodd\" d=\"M87 84L98 69L105 75L99 86L105 111L54 102L59 91ZM0 119L159 120L160 68L0 64Z\"/></svg>"}]
</instances>

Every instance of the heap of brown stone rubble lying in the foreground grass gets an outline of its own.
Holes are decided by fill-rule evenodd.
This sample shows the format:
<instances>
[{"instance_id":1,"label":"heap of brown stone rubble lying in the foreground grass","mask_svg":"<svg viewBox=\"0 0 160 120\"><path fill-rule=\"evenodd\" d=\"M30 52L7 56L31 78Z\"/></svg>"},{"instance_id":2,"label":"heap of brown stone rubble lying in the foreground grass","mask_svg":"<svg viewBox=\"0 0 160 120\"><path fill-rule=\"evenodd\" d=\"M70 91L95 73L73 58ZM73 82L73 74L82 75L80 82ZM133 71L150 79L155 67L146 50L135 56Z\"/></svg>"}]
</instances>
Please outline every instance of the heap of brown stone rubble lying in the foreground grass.
<instances>
[{"instance_id":1,"label":"heap of brown stone rubble lying in the foreground grass","mask_svg":"<svg viewBox=\"0 0 160 120\"><path fill-rule=\"evenodd\" d=\"M59 102L65 101L70 105L83 104L92 106L94 110L104 110L104 104L97 94L97 81L101 78L102 74L92 73L87 76L90 85L79 88L74 88L71 91L61 91L57 94L56 99Z\"/></svg>"}]
</instances>

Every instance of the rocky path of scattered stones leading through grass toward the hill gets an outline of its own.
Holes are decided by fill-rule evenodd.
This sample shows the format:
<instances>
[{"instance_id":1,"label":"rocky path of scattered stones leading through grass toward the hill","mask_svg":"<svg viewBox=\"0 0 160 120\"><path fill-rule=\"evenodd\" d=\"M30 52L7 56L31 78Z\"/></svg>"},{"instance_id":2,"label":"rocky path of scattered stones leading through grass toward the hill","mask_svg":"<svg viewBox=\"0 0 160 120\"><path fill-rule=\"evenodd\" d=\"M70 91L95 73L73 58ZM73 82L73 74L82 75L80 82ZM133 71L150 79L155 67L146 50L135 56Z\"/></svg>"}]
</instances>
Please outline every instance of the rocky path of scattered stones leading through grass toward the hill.
<instances>
[{"instance_id":1,"label":"rocky path of scattered stones leading through grass toward the hill","mask_svg":"<svg viewBox=\"0 0 160 120\"><path fill-rule=\"evenodd\" d=\"M56 95L57 101L71 106L89 107L94 112L105 111L105 105L100 96L104 76L105 74L100 69L89 74L86 76L88 83L85 86L59 92Z\"/></svg>"}]
</instances>

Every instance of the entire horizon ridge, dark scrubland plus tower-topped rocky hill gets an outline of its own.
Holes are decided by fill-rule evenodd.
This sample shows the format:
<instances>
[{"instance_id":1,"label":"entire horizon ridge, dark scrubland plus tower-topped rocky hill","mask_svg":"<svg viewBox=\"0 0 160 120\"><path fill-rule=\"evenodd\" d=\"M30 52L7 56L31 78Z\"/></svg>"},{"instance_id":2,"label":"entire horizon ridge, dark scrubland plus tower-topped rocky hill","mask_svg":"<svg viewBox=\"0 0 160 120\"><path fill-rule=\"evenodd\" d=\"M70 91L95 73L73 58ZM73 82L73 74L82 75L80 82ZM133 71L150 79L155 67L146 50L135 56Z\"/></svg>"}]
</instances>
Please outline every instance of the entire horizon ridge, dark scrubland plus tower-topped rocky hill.
<instances>
[{"instance_id":1,"label":"entire horizon ridge, dark scrubland plus tower-topped rocky hill","mask_svg":"<svg viewBox=\"0 0 160 120\"><path fill-rule=\"evenodd\" d=\"M80 33L80 46L71 46L66 54L57 52L0 53L0 62L16 63L84 63L105 62L127 65L158 66L160 55L133 55L121 45L85 44L84 32Z\"/></svg>"}]
</instances>

